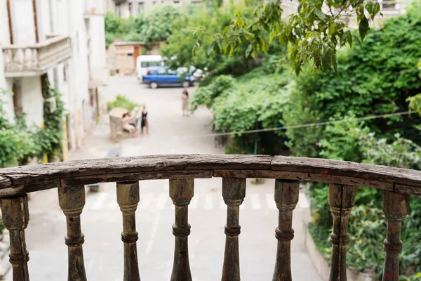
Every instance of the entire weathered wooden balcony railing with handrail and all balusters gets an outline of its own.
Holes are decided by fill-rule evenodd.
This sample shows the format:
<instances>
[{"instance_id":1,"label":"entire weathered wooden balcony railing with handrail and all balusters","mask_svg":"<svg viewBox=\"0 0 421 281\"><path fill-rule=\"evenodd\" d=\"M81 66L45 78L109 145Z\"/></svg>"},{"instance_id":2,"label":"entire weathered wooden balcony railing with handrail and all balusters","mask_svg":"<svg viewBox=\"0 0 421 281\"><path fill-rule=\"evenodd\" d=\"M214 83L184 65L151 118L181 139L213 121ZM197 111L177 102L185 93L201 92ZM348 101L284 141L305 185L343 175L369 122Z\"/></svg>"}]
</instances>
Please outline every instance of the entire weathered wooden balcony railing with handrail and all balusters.
<instances>
[{"instance_id":1,"label":"entire weathered wooden balcony railing with handrail and all balusters","mask_svg":"<svg viewBox=\"0 0 421 281\"><path fill-rule=\"evenodd\" d=\"M93 159L0 169L0 201L4 225L10 232L13 280L29 280L25 228L29 221L27 193L58 188L60 207L67 218L69 280L86 280L80 215L85 204L84 185L116 182L117 202L123 214L123 280L138 281L135 211L140 200L139 181L169 179L169 196L175 205L174 263L171 280L192 280L187 237L189 202L194 178L222 177L222 197L227 204L226 243L222 280L240 280L239 206L246 196L246 178L276 178L274 201L279 209L275 230L276 264L273 280L292 280L290 241L294 237L292 214L298 202L300 181L330 183L333 214L330 281L347 280L347 222L354 206L356 186L384 190L387 218L383 281L397 280L402 250L401 223L409 210L410 195L421 195L421 171L327 159L255 155L161 155Z\"/></svg>"}]
</instances>

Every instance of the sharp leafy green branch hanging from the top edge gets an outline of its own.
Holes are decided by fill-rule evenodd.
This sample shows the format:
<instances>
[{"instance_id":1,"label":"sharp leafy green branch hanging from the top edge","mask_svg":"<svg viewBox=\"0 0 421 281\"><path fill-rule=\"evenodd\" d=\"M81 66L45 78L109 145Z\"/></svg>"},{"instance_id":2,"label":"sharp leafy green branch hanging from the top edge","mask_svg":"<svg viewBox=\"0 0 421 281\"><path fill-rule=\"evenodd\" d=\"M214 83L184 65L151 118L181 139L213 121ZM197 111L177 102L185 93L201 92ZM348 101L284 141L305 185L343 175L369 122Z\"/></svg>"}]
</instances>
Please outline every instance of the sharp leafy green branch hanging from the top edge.
<instances>
[{"instance_id":1,"label":"sharp leafy green branch hanging from the top edge","mask_svg":"<svg viewBox=\"0 0 421 281\"><path fill-rule=\"evenodd\" d=\"M290 61L299 73L301 67L312 61L314 69L337 71L337 46L361 44L369 30L368 19L380 12L380 4L368 0L309 0L300 1L298 11L282 20L281 0L258 5L252 16L237 13L230 25L218 33L199 27L198 44L208 40L208 53L215 51L228 55L239 51L248 42L246 55L253 57L260 51L267 52L269 44L276 41L288 46ZM359 23L359 36L349 30L340 18L355 16Z\"/></svg>"}]
</instances>

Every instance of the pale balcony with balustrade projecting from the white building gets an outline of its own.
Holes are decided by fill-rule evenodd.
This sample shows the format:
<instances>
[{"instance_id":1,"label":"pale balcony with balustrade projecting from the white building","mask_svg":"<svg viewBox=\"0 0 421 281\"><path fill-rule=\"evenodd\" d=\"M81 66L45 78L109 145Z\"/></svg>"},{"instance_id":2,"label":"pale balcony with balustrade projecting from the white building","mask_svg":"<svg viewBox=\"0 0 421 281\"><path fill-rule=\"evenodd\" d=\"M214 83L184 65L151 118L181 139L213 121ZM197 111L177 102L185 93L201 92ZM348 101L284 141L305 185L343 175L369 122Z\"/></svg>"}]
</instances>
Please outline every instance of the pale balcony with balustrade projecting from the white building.
<instances>
[{"instance_id":1,"label":"pale balcony with balustrade projecting from the white building","mask_svg":"<svg viewBox=\"0 0 421 281\"><path fill-rule=\"evenodd\" d=\"M72 56L68 36L47 37L46 41L28 46L3 46L6 77L29 77L44 74L51 67Z\"/></svg>"}]
</instances>

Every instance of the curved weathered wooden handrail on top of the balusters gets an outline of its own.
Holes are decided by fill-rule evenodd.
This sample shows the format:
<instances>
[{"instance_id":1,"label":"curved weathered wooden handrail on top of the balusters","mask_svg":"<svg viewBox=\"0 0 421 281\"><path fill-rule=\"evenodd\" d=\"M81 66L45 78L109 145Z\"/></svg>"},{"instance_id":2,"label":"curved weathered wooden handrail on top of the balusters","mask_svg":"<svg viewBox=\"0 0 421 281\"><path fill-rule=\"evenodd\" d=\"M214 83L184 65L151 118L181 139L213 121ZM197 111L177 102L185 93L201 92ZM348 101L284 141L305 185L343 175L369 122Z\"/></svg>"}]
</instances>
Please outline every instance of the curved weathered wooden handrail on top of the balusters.
<instances>
[{"instance_id":1,"label":"curved weathered wooden handrail on top of the balusters","mask_svg":"<svg viewBox=\"0 0 421 281\"><path fill-rule=\"evenodd\" d=\"M0 169L0 197L62 185L161 178L283 178L421 195L421 171L329 159L266 155L152 155Z\"/></svg>"}]
</instances>

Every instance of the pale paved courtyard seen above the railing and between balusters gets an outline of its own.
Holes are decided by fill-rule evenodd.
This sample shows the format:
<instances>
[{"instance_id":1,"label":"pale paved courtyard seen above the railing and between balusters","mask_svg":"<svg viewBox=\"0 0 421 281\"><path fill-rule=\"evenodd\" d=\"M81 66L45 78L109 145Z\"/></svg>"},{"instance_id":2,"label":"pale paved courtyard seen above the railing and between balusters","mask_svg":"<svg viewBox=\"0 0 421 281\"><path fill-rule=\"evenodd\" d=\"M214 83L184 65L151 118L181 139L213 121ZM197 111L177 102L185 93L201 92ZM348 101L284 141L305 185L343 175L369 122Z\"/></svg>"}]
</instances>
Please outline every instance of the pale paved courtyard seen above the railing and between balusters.
<instances>
[{"instance_id":1,"label":"pale paved courtyard seen above the railing and between balusters","mask_svg":"<svg viewBox=\"0 0 421 281\"><path fill-rule=\"evenodd\" d=\"M147 106L149 136L130 138L121 143L121 156L223 153L215 148L211 133L212 114L200 109L190 117L181 111L181 88L147 89L134 77L112 77L102 90L105 100L126 94ZM189 89L192 94L193 88ZM109 126L103 119L85 139L83 148L70 159L103 157L113 145L108 140ZM189 258L193 280L220 280L225 247L226 207L221 196L221 179L195 180L194 199L189 206ZM272 280L276 255L274 229L278 211L273 200L274 180L253 185L248 180L246 200L240 211L240 268L242 280ZM292 270L294 280L319 280L300 237L302 219L309 203L301 196L294 211ZM30 220L26 231L29 273L32 281L66 280L67 247L65 216L58 207L57 190L32 195ZM138 259L142 280L169 280L173 266L174 237L171 226L174 210L168 197L168 181L141 181L140 203L136 212ZM101 185L99 192L86 192L81 215L85 266L88 280L123 279L121 211L116 204L115 183ZM11 280L8 279L8 280Z\"/></svg>"}]
</instances>

